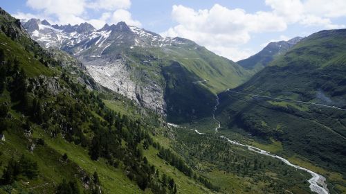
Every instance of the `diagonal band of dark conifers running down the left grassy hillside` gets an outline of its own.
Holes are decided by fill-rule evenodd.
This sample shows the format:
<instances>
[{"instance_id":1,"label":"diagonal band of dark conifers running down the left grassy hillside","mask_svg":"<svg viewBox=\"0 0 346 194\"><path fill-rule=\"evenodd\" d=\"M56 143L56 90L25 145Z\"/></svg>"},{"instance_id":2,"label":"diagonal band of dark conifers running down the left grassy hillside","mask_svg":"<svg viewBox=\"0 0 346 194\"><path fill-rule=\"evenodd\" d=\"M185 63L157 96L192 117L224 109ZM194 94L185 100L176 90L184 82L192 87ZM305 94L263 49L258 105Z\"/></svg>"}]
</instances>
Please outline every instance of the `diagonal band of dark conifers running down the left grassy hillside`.
<instances>
[{"instance_id":1,"label":"diagonal band of dark conifers running down the left grassy hillside","mask_svg":"<svg viewBox=\"0 0 346 194\"><path fill-rule=\"evenodd\" d=\"M18 110L29 118L24 128L30 130L30 123L35 123L53 137L62 133L67 141L89 148L91 159L103 157L115 168L121 163L129 179L141 189L150 188L154 193L176 193L175 184L172 186L162 182L156 176L154 166L143 157L142 147L149 148L153 140L139 121L111 111L98 95L75 84L65 73L61 76L65 81L62 84L69 89L52 96L26 82L26 74L19 69L19 62L13 66L11 64L10 69L6 71L10 72L10 80L17 86L8 87L12 101L21 102ZM47 98L50 100L46 101ZM102 120L93 112L100 115ZM122 142L126 142L126 146ZM73 182L65 181L59 190L69 193L75 192L75 188Z\"/></svg>"}]
</instances>

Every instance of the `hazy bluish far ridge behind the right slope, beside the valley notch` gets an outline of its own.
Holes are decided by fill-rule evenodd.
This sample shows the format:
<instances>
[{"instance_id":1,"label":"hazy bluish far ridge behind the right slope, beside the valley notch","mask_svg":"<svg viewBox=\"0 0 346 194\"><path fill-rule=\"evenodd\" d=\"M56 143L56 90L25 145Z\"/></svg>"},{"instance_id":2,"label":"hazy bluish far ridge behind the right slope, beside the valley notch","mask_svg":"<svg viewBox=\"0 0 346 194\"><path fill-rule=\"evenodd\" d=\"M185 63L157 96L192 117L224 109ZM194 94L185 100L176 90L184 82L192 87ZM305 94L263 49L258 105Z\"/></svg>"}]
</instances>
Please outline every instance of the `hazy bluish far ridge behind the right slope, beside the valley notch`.
<instances>
[{"instance_id":1,"label":"hazy bluish far ridge behind the right slope, beside the valley notch","mask_svg":"<svg viewBox=\"0 0 346 194\"><path fill-rule=\"evenodd\" d=\"M259 53L245 60L240 60L237 64L245 69L254 69L255 71L259 71L275 60L275 58L284 55L290 48L300 42L301 39L302 37L294 37L288 41L271 42Z\"/></svg>"}]
</instances>

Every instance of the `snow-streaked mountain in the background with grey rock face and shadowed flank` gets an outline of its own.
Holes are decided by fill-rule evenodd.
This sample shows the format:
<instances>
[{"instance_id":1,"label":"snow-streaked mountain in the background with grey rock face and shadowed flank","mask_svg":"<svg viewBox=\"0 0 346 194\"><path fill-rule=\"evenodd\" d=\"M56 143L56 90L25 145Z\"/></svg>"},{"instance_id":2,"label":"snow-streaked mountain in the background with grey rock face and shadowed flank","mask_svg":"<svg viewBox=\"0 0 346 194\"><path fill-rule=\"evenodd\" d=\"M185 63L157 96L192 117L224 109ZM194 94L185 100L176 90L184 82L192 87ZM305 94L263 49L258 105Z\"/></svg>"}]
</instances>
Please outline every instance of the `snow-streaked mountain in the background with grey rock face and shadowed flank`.
<instances>
[{"instance_id":1,"label":"snow-streaked mountain in the background with grey rock face and shadowed flank","mask_svg":"<svg viewBox=\"0 0 346 194\"><path fill-rule=\"evenodd\" d=\"M171 122L210 115L213 94L237 87L251 76L235 62L188 39L164 38L124 22L99 30L90 24L51 26L38 19L23 24L42 46L78 58L100 85L167 114ZM171 66L183 70L171 69L172 76L167 76L165 67ZM176 80L181 71L188 77Z\"/></svg>"}]
</instances>

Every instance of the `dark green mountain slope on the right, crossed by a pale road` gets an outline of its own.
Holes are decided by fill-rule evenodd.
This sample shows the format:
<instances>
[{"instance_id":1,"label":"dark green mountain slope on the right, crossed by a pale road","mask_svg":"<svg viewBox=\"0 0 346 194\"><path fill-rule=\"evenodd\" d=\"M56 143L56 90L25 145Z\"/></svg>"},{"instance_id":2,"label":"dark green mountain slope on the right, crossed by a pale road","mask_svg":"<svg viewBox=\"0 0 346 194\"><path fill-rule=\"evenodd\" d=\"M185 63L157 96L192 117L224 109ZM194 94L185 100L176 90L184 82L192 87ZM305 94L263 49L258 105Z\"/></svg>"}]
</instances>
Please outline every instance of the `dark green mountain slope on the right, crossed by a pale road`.
<instances>
[{"instance_id":1,"label":"dark green mountain slope on the right, crossed by a pale road","mask_svg":"<svg viewBox=\"0 0 346 194\"><path fill-rule=\"evenodd\" d=\"M282 154L298 154L345 177L345 75L346 30L320 31L244 85L221 93L217 118L225 128L281 141Z\"/></svg>"}]
</instances>

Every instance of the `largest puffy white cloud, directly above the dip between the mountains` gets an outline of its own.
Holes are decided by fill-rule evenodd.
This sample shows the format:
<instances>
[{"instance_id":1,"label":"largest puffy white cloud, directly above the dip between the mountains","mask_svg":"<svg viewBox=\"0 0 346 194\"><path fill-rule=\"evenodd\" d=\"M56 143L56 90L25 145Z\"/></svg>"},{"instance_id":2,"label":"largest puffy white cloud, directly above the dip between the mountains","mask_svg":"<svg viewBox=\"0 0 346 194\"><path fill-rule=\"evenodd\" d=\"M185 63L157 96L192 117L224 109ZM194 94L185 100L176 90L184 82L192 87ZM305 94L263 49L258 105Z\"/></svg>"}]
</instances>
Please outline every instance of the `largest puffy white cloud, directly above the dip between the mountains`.
<instances>
[{"instance_id":1,"label":"largest puffy white cloud, directly above the dip between the mountains","mask_svg":"<svg viewBox=\"0 0 346 194\"><path fill-rule=\"evenodd\" d=\"M172 18L178 25L161 35L192 39L210 51L232 60L240 60L252 54L236 49L251 39L251 33L282 31L287 27L282 17L271 12L248 14L245 10L230 10L219 4L215 4L210 10L173 6Z\"/></svg>"}]
</instances>

